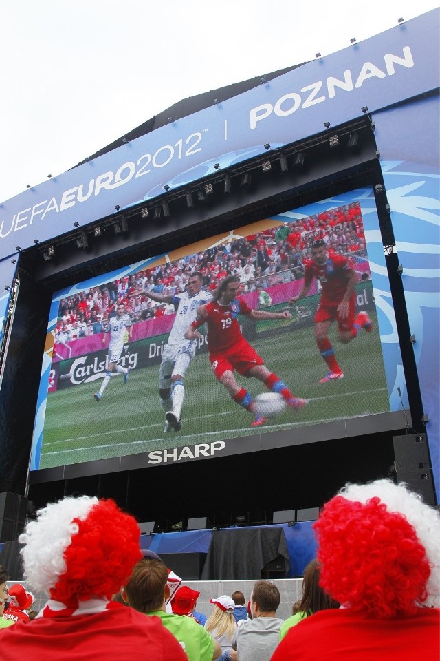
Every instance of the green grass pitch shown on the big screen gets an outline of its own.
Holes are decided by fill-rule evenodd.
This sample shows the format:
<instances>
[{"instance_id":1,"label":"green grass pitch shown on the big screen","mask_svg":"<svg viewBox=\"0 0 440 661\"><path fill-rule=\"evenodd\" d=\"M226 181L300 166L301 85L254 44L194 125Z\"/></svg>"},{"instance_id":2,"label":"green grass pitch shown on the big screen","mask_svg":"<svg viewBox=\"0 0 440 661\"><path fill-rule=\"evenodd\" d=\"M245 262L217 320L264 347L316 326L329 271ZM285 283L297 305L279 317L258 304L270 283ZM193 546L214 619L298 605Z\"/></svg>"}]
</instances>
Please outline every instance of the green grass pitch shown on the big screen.
<instances>
[{"instance_id":1,"label":"green grass pitch shown on the big screen","mask_svg":"<svg viewBox=\"0 0 440 661\"><path fill-rule=\"evenodd\" d=\"M313 328L295 328L252 341L270 370L294 395L309 399L296 412L286 409L264 426L250 428L252 415L238 406L212 375L208 354L199 354L186 374L186 398L179 433L164 434L164 410L157 392L159 366L133 370L124 384L111 377L97 402L93 395L101 381L65 388L47 397L41 468L120 457L138 452L177 448L194 443L243 437L280 429L303 427L347 417L389 410L380 337L375 312L369 311L372 333L361 330L349 344L330 339L344 379L319 384L327 372L314 342ZM257 379L238 376L252 395L265 392Z\"/></svg>"}]
</instances>

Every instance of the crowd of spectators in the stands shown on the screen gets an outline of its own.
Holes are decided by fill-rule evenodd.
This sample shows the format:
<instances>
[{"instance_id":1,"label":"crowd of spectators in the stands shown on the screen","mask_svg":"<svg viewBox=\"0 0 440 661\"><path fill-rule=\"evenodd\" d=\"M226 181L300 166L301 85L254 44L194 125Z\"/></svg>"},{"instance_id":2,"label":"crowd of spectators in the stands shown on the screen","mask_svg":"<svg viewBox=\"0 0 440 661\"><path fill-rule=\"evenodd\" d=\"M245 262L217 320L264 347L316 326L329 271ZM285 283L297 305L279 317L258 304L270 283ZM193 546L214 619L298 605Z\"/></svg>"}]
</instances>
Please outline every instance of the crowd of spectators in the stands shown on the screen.
<instances>
[{"instance_id":1,"label":"crowd of spectators in the stands shown on the screen","mask_svg":"<svg viewBox=\"0 0 440 661\"><path fill-rule=\"evenodd\" d=\"M304 275L303 261L309 258L311 244L317 238L338 253L365 259L359 202L232 239L169 264L66 296L60 300L56 340L65 343L102 333L120 303L133 324L172 315L173 304L156 303L139 291L178 295L194 271L203 275L203 288L212 291L223 277L232 274L239 275L244 292L298 280Z\"/></svg>"}]
</instances>

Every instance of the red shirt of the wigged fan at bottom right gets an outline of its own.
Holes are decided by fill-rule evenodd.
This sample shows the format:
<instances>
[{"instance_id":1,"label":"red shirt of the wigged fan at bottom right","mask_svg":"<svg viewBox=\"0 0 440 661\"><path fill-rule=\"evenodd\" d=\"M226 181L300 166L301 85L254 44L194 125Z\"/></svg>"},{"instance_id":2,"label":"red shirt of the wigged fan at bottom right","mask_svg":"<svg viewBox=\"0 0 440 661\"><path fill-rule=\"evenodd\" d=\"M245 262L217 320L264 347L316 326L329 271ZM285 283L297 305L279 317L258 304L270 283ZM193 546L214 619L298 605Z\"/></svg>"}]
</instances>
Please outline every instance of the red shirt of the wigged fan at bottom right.
<instances>
[{"instance_id":1,"label":"red shirt of the wigged fan at bottom right","mask_svg":"<svg viewBox=\"0 0 440 661\"><path fill-rule=\"evenodd\" d=\"M439 641L439 609L392 620L331 609L289 629L270 661L434 661Z\"/></svg>"}]
</instances>

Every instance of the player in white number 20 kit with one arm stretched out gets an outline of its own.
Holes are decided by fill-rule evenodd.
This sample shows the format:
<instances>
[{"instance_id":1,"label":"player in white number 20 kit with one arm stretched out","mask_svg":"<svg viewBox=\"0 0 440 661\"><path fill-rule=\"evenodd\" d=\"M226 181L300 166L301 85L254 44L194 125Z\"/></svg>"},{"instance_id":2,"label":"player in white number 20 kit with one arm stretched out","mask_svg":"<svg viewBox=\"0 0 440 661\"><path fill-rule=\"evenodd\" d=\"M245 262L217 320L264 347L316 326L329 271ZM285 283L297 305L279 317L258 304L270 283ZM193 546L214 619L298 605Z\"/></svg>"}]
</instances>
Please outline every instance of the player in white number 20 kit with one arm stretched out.
<instances>
[{"instance_id":1,"label":"player in white number 20 kit with one arm stretched out","mask_svg":"<svg viewBox=\"0 0 440 661\"><path fill-rule=\"evenodd\" d=\"M176 318L171 328L168 344L162 353L159 369L159 396L165 411L166 425L164 432L181 429L181 407L184 403L184 376L195 355L197 342L185 338L185 331L194 321L197 308L212 299L208 291L202 291L203 276L191 273L186 291L181 294L159 294L153 291L142 293L157 303L172 303L176 309Z\"/></svg>"}]
</instances>

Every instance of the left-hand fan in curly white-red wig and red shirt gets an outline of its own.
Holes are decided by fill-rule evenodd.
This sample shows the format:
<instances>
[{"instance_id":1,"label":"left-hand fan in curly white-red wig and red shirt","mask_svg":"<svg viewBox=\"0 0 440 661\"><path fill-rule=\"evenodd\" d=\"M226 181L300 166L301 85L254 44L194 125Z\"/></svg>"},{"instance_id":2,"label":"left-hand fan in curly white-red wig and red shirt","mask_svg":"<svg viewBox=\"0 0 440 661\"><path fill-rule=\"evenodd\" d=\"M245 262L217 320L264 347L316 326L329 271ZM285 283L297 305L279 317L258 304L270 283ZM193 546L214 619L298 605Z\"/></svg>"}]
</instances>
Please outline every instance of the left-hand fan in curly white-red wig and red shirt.
<instances>
[{"instance_id":1,"label":"left-hand fan in curly white-red wig and red shirt","mask_svg":"<svg viewBox=\"0 0 440 661\"><path fill-rule=\"evenodd\" d=\"M1 634L1 658L185 661L159 619L111 601L142 556L140 530L111 500L68 497L47 505L20 535L27 585L47 604Z\"/></svg>"}]
</instances>

